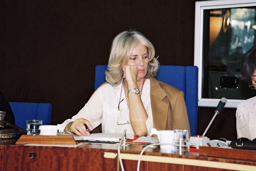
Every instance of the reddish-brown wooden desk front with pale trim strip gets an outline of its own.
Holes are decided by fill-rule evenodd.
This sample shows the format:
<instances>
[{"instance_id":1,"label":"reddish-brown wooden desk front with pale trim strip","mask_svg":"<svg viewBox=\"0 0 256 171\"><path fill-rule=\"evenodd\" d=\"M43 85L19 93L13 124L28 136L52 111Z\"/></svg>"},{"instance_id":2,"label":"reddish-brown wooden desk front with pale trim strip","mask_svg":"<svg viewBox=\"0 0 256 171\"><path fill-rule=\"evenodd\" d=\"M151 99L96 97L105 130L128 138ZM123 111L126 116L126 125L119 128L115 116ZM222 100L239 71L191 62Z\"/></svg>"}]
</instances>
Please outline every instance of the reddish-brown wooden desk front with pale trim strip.
<instances>
[{"instance_id":1,"label":"reddish-brown wooden desk front with pale trim strip","mask_svg":"<svg viewBox=\"0 0 256 171\"><path fill-rule=\"evenodd\" d=\"M137 170L142 149L143 145L133 144L126 150L121 150L125 171ZM164 149L147 149L142 157L140 171L256 170L256 151L253 151L253 156L250 155L252 151L248 150L200 147L199 151L205 154L178 155ZM211 151L217 153L209 156L207 153ZM245 152L246 155L243 155ZM30 153L35 153L36 156L30 157ZM117 145L84 143L77 148L0 145L0 170L117 170Z\"/></svg>"}]
</instances>

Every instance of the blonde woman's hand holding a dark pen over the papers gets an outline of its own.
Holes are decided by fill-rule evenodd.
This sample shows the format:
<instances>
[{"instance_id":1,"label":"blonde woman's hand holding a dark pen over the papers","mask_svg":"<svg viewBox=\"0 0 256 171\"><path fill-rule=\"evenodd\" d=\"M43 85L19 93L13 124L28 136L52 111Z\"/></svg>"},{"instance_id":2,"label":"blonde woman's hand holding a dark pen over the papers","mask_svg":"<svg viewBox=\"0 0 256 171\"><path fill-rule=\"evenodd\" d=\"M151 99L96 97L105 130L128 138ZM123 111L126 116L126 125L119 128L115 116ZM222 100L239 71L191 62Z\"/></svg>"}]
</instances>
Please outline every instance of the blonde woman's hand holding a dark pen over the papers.
<instances>
[{"instance_id":1,"label":"blonde woman's hand holding a dark pen over the papers","mask_svg":"<svg viewBox=\"0 0 256 171\"><path fill-rule=\"evenodd\" d=\"M85 125L88 127L88 131L86 131ZM66 126L66 130L70 133L75 133L78 136L88 136L90 135L89 131L92 131L92 126L90 122L84 118L76 119L74 122L69 123Z\"/></svg>"}]
</instances>

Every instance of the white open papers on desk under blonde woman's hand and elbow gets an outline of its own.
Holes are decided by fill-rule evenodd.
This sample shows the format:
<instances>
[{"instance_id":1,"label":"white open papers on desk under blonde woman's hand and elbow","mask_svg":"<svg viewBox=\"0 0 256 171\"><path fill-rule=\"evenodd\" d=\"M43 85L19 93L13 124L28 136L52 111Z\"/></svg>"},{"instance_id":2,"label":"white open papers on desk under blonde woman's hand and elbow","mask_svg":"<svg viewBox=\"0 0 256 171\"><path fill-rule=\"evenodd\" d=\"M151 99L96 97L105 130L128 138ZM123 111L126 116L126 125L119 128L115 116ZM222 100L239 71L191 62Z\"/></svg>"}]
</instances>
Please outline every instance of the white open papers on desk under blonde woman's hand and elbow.
<instances>
[{"instance_id":1,"label":"white open papers on desk under blonde woman's hand and elbow","mask_svg":"<svg viewBox=\"0 0 256 171\"><path fill-rule=\"evenodd\" d=\"M98 133L90 134L89 136L74 136L75 140L91 140L91 141L116 141L118 142L121 139L123 134L117 133ZM126 134L126 139L134 139L134 134Z\"/></svg>"}]
</instances>

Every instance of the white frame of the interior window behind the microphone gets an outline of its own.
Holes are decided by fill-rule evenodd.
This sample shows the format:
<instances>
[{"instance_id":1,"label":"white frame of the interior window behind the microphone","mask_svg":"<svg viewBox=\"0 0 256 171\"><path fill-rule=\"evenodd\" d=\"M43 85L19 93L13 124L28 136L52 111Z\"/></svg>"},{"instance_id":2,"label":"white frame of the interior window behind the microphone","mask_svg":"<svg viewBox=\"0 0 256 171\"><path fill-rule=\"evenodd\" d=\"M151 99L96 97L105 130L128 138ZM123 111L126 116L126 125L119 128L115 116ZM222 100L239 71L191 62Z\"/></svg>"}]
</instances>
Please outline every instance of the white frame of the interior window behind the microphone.
<instances>
[{"instance_id":1,"label":"white frame of the interior window behind the microphone","mask_svg":"<svg viewBox=\"0 0 256 171\"><path fill-rule=\"evenodd\" d=\"M198 106L216 107L220 99L202 98L203 79L203 10L256 6L256 0L211 0L195 2L194 65L198 67ZM228 99L226 108L237 108L244 100Z\"/></svg>"}]
</instances>

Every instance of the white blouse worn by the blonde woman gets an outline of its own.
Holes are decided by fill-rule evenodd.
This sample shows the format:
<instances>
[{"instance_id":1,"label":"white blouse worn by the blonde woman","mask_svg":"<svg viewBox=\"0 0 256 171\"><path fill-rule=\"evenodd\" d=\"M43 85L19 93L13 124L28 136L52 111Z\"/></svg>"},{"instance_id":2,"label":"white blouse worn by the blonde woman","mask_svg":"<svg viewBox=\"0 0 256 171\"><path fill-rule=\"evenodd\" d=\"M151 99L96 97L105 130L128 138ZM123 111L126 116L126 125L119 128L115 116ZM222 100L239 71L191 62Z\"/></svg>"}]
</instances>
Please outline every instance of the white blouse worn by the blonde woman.
<instances>
[{"instance_id":1,"label":"white blouse worn by the blonde woman","mask_svg":"<svg viewBox=\"0 0 256 171\"><path fill-rule=\"evenodd\" d=\"M112 87L109 83L103 84L93 93L89 101L78 112L78 114L73 116L71 119L67 119L61 124L61 131L64 131L68 123L79 118L84 118L91 123L93 129L101 124L102 133L123 133L126 129L127 134L134 134L125 98L125 94L127 94L127 92L124 92L124 89L121 89L121 86L122 83L119 83L115 87ZM119 99L120 101L123 99L119 105L120 111L118 111ZM148 135L151 136L153 118L150 101L150 79L146 79L143 85L141 100L148 114L146 126L148 129ZM127 123L128 121L129 124L117 125L117 120L118 123Z\"/></svg>"}]
</instances>

